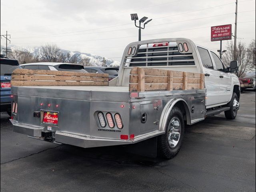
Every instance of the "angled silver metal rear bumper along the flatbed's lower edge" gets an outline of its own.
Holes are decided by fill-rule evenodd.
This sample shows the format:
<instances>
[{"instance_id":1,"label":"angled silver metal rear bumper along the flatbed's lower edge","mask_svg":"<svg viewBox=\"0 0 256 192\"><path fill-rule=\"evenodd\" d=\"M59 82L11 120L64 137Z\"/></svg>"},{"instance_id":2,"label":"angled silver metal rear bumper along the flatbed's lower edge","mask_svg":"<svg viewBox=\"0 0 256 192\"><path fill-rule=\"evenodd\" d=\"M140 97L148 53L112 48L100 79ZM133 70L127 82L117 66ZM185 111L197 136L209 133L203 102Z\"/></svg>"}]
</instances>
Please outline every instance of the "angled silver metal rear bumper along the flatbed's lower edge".
<instances>
[{"instance_id":1,"label":"angled silver metal rear bumper along the flatbed's lower edge","mask_svg":"<svg viewBox=\"0 0 256 192\"><path fill-rule=\"evenodd\" d=\"M26 124L20 124L16 120L10 119L13 125L13 131L21 134L25 134L30 136L31 138L44 140L41 137L41 132L44 130L44 127L41 126L31 126ZM132 140L121 140L121 139L112 139L112 138L96 138L92 136L84 136L77 135L67 132L55 132L55 139L53 140L45 140L47 142L53 142L58 144L70 144L82 148L90 148L90 147L100 147L100 146L113 146L113 145L125 145L137 143L148 138L152 138L163 134L163 131L154 131L148 134L143 134L140 136L136 136Z\"/></svg>"}]
</instances>

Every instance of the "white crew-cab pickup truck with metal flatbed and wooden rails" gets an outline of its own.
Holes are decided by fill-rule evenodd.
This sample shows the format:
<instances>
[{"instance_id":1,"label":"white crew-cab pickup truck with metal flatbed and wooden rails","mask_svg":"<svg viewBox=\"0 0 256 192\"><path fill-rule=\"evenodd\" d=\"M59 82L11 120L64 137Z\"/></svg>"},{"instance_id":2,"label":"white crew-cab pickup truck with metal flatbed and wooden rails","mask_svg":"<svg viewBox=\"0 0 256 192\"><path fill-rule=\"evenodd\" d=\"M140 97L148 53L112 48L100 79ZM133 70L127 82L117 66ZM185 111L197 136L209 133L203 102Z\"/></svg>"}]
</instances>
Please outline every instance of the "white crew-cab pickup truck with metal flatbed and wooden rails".
<instances>
[{"instance_id":1,"label":"white crew-cab pickup truck with metal flatbed and wooden rails","mask_svg":"<svg viewBox=\"0 0 256 192\"><path fill-rule=\"evenodd\" d=\"M118 77L18 69L12 74L14 132L83 148L128 145L131 152L174 157L184 124L225 112L236 118L237 62L224 68L212 51L186 38L129 44Z\"/></svg>"}]
</instances>

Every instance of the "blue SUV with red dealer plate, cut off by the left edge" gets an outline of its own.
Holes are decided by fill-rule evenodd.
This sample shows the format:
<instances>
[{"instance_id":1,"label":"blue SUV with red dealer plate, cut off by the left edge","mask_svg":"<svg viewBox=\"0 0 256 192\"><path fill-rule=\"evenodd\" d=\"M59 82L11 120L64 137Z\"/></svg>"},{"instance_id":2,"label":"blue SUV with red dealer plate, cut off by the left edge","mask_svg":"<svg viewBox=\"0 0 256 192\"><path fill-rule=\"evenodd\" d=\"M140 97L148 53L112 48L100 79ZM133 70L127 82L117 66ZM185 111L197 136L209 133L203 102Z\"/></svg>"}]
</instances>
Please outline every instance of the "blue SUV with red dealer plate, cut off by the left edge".
<instances>
[{"instance_id":1,"label":"blue SUV with red dealer plate, cut off by the left edge","mask_svg":"<svg viewBox=\"0 0 256 192\"><path fill-rule=\"evenodd\" d=\"M1 55L1 112L11 116L11 75L14 69L20 68L17 60Z\"/></svg>"}]
</instances>

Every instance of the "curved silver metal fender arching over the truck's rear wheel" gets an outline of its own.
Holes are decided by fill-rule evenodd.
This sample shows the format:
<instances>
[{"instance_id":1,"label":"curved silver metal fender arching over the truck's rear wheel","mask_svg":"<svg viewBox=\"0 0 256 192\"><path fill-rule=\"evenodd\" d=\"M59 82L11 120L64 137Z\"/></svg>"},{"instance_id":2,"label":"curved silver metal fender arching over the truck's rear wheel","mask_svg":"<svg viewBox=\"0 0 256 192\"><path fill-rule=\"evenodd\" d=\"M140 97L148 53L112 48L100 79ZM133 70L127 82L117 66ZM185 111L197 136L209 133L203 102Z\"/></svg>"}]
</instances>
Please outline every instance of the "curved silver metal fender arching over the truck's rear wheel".
<instances>
[{"instance_id":1,"label":"curved silver metal fender arching over the truck's rear wheel","mask_svg":"<svg viewBox=\"0 0 256 192\"><path fill-rule=\"evenodd\" d=\"M187 124L190 124L190 111L189 111L188 104L186 103L186 101L184 99L171 99L166 104L166 106L164 107L163 112L161 114L160 121L159 121L159 130L160 131L165 131L168 116L169 116L172 108L175 106L175 104L180 101L184 104L184 108L186 110Z\"/></svg>"}]
</instances>

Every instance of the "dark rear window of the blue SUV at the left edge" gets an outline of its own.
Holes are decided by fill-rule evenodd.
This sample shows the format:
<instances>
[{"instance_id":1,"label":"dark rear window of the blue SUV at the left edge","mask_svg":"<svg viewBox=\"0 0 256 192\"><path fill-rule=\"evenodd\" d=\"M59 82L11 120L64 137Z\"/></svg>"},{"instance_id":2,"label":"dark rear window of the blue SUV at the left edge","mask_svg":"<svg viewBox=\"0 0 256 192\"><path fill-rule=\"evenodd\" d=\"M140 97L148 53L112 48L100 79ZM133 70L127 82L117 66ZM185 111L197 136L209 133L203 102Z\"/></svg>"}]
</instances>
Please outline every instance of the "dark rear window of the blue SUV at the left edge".
<instances>
[{"instance_id":1,"label":"dark rear window of the blue SUV at the left edge","mask_svg":"<svg viewBox=\"0 0 256 192\"><path fill-rule=\"evenodd\" d=\"M1 75L11 75L15 69L20 68L18 61L11 60L11 59L1 59L0 65L1 65L1 68L0 68Z\"/></svg>"}]
</instances>

